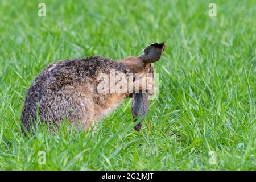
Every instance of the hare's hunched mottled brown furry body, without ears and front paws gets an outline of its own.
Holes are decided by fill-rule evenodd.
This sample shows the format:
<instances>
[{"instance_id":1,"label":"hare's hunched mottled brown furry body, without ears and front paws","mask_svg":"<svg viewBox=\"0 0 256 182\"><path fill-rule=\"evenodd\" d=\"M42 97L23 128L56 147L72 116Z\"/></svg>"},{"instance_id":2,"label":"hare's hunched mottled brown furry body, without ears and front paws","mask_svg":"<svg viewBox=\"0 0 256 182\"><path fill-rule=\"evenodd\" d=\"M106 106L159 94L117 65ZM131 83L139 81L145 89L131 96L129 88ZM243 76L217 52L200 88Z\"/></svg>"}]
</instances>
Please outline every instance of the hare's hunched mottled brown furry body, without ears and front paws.
<instances>
[{"instance_id":1,"label":"hare's hunched mottled brown furry body, without ears and front paws","mask_svg":"<svg viewBox=\"0 0 256 182\"><path fill-rule=\"evenodd\" d=\"M139 57L113 61L94 56L53 63L39 74L28 89L21 115L22 123L30 130L36 119L56 125L68 119L75 126L81 123L85 129L89 129L94 121L108 115L130 96L128 93L97 93L98 75L109 75L110 69L125 75L148 73L150 66L151 63L144 63Z\"/></svg>"}]
</instances>

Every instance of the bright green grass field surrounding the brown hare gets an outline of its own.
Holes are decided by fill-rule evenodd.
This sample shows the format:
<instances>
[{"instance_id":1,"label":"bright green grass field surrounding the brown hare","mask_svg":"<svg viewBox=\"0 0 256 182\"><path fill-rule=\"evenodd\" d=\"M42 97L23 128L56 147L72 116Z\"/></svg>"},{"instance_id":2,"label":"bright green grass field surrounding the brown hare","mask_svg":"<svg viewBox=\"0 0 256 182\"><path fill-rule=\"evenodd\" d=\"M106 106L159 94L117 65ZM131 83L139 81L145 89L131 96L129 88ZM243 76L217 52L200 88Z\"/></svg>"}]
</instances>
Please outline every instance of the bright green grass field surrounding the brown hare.
<instances>
[{"instance_id":1,"label":"bright green grass field surrounding the brown hare","mask_svg":"<svg viewBox=\"0 0 256 182\"><path fill-rule=\"evenodd\" d=\"M255 19L253 0L0 1L0 169L255 170ZM95 133L67 122L20 132L24 96L48 64L118 60L164 41L159 98L140 132L130 99Z\"/></svg>"}]
</instances>

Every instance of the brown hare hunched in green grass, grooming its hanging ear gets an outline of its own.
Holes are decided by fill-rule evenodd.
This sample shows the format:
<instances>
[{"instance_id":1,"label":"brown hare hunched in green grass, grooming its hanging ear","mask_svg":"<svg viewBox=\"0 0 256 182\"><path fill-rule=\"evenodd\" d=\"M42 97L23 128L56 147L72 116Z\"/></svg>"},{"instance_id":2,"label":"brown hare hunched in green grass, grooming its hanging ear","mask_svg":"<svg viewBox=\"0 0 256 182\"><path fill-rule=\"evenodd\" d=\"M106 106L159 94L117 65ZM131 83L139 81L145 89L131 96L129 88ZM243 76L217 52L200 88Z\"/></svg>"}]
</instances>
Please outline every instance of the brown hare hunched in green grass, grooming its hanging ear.
<instances>
[{"instance_id":1,"label":"brown hare hunched in green grass, grooming its hanging ear","mask_svg":"<svg viewBox=\"0 0 256 182\"><path fill-rule=\"evenodd\" d=\"M148 92L154 92L154 80L144 77L141 80L133 78L130 82L128 77L131 73L154 73L152 63L160 59L164 47L165 43L154 43L147 46L141 56L120 61L93 56L49 65L27 91L21 115L23 125L29 131L36 121L53 122L58 126L61 120L67 119L75 126L82 125L90 129L94 121L109 114L127 97L133 97L134 118L146 114L150 103ZM105 84L102 84L102 75L111 77L113 71L127 76L127 80L121 81L131 83L125 92L111 92L111 86L110 92L102 92L102 88L109 91L106 83L113 84L111 79L106 79ZM115 81L113 85L117 84ZM99 85L104 86L98 89ZM142 93L142 90L146 90L146 93ZM135 129L140 130L141 123Z\"/></svg>"}]
</instances>

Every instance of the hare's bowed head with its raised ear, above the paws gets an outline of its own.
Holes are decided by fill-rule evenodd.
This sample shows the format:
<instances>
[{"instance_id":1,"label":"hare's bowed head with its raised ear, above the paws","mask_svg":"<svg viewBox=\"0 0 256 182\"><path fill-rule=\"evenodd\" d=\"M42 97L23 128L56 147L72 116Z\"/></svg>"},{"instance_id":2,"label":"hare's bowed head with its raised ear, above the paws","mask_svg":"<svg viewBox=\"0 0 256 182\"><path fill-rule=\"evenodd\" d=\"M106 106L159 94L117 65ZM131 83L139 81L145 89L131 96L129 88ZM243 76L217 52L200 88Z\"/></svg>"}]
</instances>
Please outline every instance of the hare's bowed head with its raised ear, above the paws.
<instances>
[{"instance_id":1,"label":"hare's bowed head with its raised ear, above the paws","mask_svg":"<svg viewBox=\"0 0 256 182\"><path fill-rule=\"evenodd\" d=\"M158 61L166 47L166 43L150 44L143 50L143 54L138 57L127 57L122 60L122 63L130 69L132 73L150 73L152 63Z\"/></svg>"}]
</instances>

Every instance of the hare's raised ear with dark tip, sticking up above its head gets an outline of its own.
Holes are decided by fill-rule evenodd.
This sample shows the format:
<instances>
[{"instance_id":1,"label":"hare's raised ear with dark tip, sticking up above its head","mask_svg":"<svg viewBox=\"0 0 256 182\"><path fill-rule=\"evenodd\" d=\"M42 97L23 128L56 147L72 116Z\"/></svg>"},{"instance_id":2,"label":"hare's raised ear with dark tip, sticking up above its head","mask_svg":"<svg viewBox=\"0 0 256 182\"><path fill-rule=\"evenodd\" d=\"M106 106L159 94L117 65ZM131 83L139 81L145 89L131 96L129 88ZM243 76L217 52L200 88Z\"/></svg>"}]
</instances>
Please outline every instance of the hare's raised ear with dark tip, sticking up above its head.
<instances>
[{"instance_id":1,"label":"hare's raised ear with dark tip, sticking up above its head","mask_svg":"<svg viewBox=\"0 0 256 182\"><path fill-rule=\"evenodd\" d=\"M162 55L162 52L164 51L164 48L166 47L166 43L154 43L150 44L143 50L143 55L139 56L144 63L154 63L158 61Z\"/></svg>"}]
</instances>

